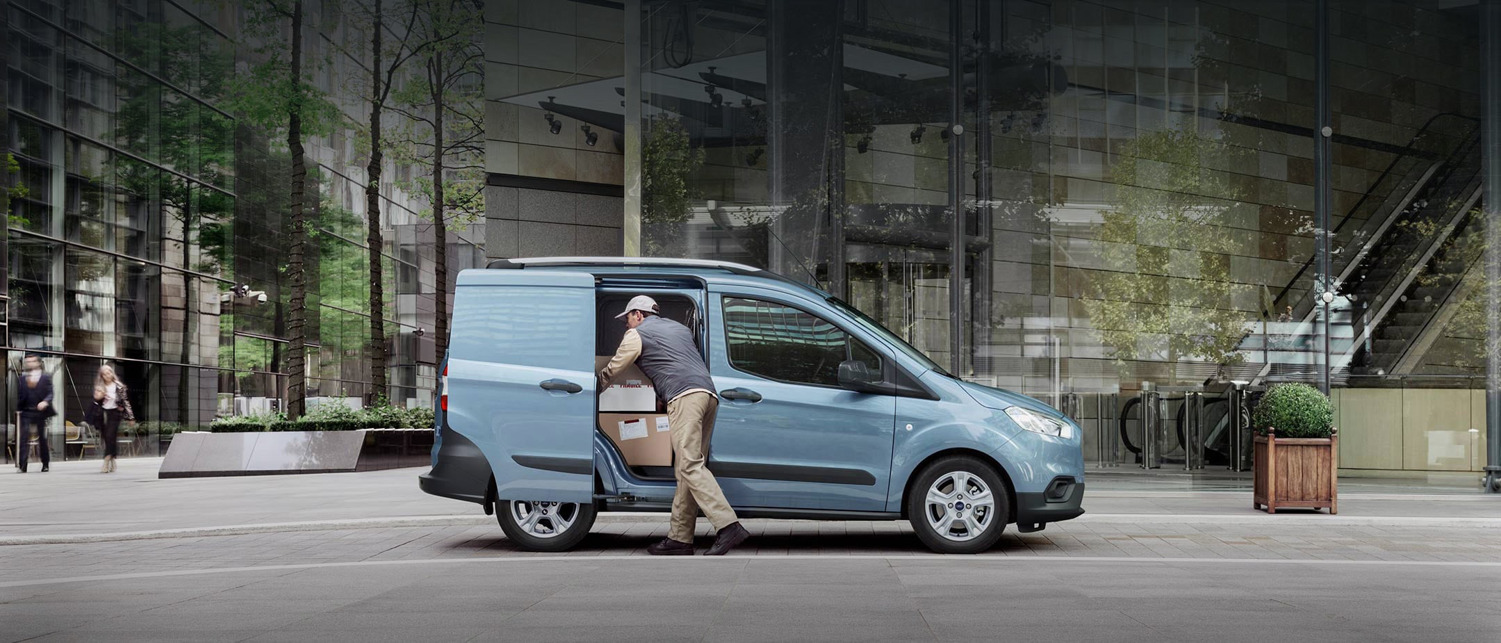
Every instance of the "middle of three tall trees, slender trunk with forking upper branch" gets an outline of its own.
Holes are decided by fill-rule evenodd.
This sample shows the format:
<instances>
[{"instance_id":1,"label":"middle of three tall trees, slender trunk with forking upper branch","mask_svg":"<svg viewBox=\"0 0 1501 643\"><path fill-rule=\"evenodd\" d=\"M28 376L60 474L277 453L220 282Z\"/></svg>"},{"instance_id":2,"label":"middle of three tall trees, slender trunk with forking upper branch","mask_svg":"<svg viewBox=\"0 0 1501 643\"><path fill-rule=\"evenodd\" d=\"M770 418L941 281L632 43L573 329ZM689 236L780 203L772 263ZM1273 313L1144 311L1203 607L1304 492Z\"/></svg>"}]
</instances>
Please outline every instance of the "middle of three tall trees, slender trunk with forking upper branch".
<instances>
[{"instance_id":1,"label":"middle of three tall trees, slender trunk with forking upper branch","mask_svg":"<svg viewBox=\"0 0 1501 643\"><path fill-rule=\"evenodd\" d=\"M369 122L366 123L369 128L369 162L365 165L365 242L369 248L371 388L375 391L377 401L383 401L387 397L386 288L384 270L381 266L381 248L386 242L384 234L381 233L380 216L380 180L381 168L386 162L386 150L381 129L381 113L386 110L386 101L390 99L392 87L398 80L398 72L402 71L405 63L411 60L413 56L419 56L423 50L432 45L432 42L419 41L416 42L416 47L408 47L413 39L413 27L416 27L417 23L417 2L408 2L405 8L398 8L398 14L405 14L405 17L395 26L387 26L386 23L387 5L393 3L390 0L369 0L368 5L360 5L365 24L369 32L371 56L371 86L368 96ZM384 42L387 30L392 32L390 44Z\"/></svg>"}]
</instances>

